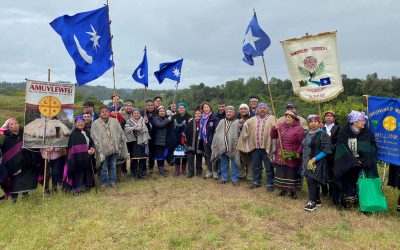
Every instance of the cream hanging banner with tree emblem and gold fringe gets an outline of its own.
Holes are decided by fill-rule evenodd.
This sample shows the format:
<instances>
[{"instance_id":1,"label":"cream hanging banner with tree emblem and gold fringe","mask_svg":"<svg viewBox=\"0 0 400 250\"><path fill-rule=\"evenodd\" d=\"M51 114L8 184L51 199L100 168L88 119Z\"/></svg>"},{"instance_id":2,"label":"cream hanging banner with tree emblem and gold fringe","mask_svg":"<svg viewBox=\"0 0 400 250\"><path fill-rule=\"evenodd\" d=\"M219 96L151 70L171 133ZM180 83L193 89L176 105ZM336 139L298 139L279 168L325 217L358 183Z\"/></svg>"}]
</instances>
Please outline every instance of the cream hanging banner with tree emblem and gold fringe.
<instances>
[{"instance_id":1,"label":"cream hanging banner with tree emblem and gold fringe","mask_svg":"<svg viewBox=\"0 0 400 250\"><path fill-rule=\"evenodd\" d=\"M293 92L308 102L326 102L343 92L336 31L281 41Z\"/></svg>"}]
</instances>

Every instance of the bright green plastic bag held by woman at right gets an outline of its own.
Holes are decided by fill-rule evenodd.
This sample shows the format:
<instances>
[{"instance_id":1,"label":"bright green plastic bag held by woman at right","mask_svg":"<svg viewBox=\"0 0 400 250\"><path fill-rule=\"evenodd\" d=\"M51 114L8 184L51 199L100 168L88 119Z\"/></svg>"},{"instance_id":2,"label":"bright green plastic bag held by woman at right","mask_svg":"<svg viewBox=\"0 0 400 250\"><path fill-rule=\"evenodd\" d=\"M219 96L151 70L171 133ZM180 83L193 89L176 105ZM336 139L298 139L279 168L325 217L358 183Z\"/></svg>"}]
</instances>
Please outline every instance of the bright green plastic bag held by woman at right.
<instances>
[{"instance_id":1,"label":"bright green plastic bag held by woman at right","mask_svg":"<svg viewBox=\"0 0 400 250\"><path fill-rule=\"evenodd\" d=\"M358 179L358 196L362 212L387 211L387 202L380 178L367 178L364 171Z\"/></svg>"}]
</instances>

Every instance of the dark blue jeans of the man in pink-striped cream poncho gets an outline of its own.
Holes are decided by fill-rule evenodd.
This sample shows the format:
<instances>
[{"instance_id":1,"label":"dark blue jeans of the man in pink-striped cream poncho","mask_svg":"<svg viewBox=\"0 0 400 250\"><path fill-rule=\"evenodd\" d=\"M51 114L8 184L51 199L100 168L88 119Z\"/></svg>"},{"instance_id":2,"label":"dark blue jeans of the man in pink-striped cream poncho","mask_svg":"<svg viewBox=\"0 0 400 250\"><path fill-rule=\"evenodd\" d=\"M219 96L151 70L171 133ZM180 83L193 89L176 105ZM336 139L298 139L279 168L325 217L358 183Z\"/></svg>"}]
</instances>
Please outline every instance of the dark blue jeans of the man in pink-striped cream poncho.
<instances>
[{"instance_id":1,"label":"dark blue jeans of the man in pink-striped cream poncho","mask_svg":"<svg viewBox=\"0 0 400 250\"><path fill-rule=\"evenodd\" d=\"M267 186L273 186L274 169L269 161L265 149L259 148L252 151L251 159L253 161L253 184L261 185L262 163L264 162L265 174L267 175Z\"/></svg>"}]
</instances>

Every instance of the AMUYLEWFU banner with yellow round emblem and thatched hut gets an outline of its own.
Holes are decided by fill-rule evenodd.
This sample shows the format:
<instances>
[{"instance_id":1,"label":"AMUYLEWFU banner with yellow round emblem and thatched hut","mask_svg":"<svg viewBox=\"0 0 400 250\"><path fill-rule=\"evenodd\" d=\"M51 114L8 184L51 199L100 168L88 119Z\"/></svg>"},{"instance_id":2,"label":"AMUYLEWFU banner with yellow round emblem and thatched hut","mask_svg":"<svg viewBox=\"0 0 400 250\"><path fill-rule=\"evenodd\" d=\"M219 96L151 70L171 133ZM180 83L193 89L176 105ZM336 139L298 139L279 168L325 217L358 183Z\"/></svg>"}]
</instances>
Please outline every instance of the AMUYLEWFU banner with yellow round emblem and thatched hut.
<instances>
[{"instance_id":1,"label":"AMUYLEWFU banner with yellow round emblem and thatched hut","mask_svg":"<svg viewBox=\"0 0 400 250\"><path fill-rule=\"evenodd\" d=\"M26 81L24 148L67 147L75 85Z\"/></svg>"}]
</instances>

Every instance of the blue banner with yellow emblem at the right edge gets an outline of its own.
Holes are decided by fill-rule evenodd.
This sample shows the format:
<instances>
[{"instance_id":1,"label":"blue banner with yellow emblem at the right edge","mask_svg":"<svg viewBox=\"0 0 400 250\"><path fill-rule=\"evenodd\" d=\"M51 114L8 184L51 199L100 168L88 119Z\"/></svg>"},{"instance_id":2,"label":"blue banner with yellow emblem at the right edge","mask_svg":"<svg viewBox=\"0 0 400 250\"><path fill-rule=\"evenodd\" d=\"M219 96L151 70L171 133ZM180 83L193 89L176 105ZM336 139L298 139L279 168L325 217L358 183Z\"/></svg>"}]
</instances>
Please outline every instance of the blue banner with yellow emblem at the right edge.
<instances>
[{"instance_id":1,"label":"blue banner with yellow emblem at the right edge","mask_svg":"<svg viewBox=\"0 0 400 250\"><path fill-rule=\"evenodd\" d=\"M368 118L378 159L400 165L400 99L369 97Z\"/></svg>"}]
</instances>

